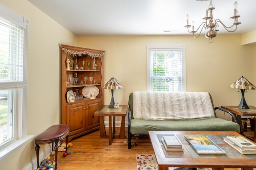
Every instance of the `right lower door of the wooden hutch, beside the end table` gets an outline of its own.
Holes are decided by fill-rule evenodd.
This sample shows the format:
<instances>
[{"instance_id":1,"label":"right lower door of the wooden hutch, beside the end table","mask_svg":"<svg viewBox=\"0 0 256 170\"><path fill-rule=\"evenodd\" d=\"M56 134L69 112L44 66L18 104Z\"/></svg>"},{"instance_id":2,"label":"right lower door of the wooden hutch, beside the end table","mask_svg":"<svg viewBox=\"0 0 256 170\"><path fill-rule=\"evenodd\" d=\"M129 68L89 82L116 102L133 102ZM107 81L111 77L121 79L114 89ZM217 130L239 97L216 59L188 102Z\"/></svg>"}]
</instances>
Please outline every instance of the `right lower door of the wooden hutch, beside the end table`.
<instances>
[{"instance_id":1,"label":"right lower door of the wooden hutch, beside the end table","mask_svg":"<svg viewBox=\"0 0 256 170\"><path fill-rule=\"evenodd\" d=\"M101 99L86 102L86 129L91 129L100 125L98 116L94 116L94 112L101 106Z\"/></svg>"}]
</instances>

